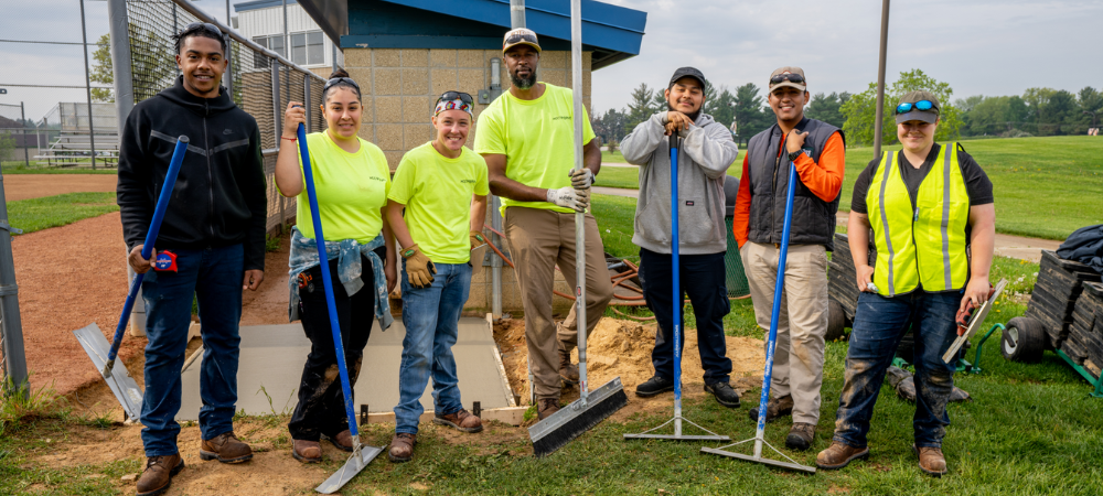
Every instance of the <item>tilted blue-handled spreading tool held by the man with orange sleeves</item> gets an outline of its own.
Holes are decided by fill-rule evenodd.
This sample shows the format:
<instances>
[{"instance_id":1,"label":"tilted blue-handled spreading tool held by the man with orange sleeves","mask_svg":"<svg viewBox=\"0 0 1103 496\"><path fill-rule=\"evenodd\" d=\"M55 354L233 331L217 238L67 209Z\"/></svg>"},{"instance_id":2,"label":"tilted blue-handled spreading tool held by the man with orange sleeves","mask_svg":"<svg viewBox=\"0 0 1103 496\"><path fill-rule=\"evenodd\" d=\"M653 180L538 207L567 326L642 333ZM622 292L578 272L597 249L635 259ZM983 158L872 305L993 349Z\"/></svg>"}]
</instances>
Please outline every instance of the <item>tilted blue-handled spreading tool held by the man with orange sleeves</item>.
<instances>
[{"instance_id":1,"label":"tilted blue-handled spreading tool held by the man with orange sleeves","mask_svg":"<svg viewBox=\"0 0 1103 496\"><path fill-rule=\"evenodd\" d=\"M732 459L743 460L748 462L761 463L764 465L775 466L779 468L785 468L790 471L807 472L810 474L816 473L816 468L812 466L801 465L796 463L795 460L785 456L784 453L778 451L777 448L770 445L765 442L765 407L767 402L770 400L770 380L773 377L773 351L778 345L778 317L781 315L781 295L785 291L785 259L789 255L789 228L793 222L793 190L796 185L796 165L793 162L789 163L789 187L785 191L785 223L781 231L781 246L778 251L778 283L773 288L773 312L770 314L770 335L767 338L765 345L765 371L762 375L762 396L759 398L759 422L758 429L754 431L754 436L740 441L738 443L728 444L727 446L720 448L702 448L702 453L711 453L720 456L728 456ZM754 454L748 456L742 453L733 453L725 450L725 448L735 446L738 444L743 444L750 441L754 441ZM765 444L774 453L780 454L789 462L781 462L777 460L770 460L762 456L762 445Z\"/></svg>"}]
</instances>

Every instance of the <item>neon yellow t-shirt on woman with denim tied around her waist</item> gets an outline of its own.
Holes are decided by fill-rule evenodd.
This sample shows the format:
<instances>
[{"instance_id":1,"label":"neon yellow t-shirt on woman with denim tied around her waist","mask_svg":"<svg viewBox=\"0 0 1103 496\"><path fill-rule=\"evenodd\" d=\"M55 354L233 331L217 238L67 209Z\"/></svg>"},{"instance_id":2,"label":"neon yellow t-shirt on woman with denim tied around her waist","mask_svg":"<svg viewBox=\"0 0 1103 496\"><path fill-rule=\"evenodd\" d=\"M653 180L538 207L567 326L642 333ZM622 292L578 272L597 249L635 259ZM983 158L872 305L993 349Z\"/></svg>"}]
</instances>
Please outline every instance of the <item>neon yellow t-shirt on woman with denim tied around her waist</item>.
<instances>
[{"instance_id":1,"label":"neon yellow t-shirt on woman with denim tied around her waist","mask_svg":"<svg viewBox=\"0 0 1103 496\"><path fill-rule=\"evenodd\" d=\"M310 150L310 170L314 176L325 240L355 239L366 244L375 239L383 230L379 208L387 204L387 193L390 192L390 169L383 150L361 139L360 151L349 153L338 147L325 131L307 134L307 148ZM301 157L299 168L301 171ZM297 200L299 231L313 238L314 225L306 183Z\"/></svg>"}]
</instances>

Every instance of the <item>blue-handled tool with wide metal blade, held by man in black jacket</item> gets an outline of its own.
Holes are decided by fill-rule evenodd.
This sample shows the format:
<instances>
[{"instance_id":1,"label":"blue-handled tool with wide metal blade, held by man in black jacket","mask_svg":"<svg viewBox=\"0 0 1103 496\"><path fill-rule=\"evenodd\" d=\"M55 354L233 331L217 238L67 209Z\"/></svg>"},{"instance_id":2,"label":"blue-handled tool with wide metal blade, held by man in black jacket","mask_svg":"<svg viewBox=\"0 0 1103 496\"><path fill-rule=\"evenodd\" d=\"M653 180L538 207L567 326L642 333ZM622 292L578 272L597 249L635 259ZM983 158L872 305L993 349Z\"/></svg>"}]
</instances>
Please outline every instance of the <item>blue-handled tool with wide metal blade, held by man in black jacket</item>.
<instances>
[{"instance_id":1,"label":"blue-handled tool with wide metal blade, held by man in black jacket","mask_svg":"<svg viewBox=\"0 0 1103 496\"><path fill-rule=\"evenodd\" d=\"M184 162L186 151L188 137L176 138L176 147L172 150L172 159L169 160L169 171L164 174L164 184L161 185L161 194L157 197L157 206L153 208L153 219L149 223L149 230L146 231L146 244L141 249L142 260L149 260L153 252L153 244L161 230L161 220L164 219L164 211L169 208L169 198L172 197L172 188L176 184L176 175L180 173L180 165ZM73 331L76 339L84 347L84 352L88 354L88 358L92 358L93 365L104 376L104 380L107 381L107 387L111 389L115 399L119 400L122 412L128 419L141 417L142 390L130 376L127 366L121 363L116 364L115 359L119 356L122 332L127 328L130 311L133 310L135 299L138 298L138 290L141 289L141 282L144 279L146 274L139 273L130 283L130 292L127 293L127 300L122 304L122 314L119 315L119 323L115 326L115 336L110 344L104 338L104 333L95 322Z\"/></svg>"}]
</instances>

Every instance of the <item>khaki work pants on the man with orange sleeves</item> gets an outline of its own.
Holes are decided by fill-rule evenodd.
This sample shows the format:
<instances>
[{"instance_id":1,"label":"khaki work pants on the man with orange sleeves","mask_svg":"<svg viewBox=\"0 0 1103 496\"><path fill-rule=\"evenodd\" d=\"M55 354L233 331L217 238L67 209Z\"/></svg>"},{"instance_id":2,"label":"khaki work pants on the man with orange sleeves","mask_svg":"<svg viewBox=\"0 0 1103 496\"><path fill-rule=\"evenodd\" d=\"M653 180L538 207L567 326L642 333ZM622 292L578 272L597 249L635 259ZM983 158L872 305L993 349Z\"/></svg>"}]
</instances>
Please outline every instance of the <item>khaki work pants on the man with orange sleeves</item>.
<instances>
[{"instance_id":1,"label":"khaki work pants on the man with orange sleeves","mask_svg":"<svg viewBox=\"0 0 1103 496\"><path fill-rule=\"evenodd\" d=\"M754 317L769 333L779 249L773 244L747 241L739 254L754 302ZM792 395L793 422L815 424L820 421L827 333L827 250L821 245L790 245L786 258L770 396Z\"/></svg>"}]
</instances>

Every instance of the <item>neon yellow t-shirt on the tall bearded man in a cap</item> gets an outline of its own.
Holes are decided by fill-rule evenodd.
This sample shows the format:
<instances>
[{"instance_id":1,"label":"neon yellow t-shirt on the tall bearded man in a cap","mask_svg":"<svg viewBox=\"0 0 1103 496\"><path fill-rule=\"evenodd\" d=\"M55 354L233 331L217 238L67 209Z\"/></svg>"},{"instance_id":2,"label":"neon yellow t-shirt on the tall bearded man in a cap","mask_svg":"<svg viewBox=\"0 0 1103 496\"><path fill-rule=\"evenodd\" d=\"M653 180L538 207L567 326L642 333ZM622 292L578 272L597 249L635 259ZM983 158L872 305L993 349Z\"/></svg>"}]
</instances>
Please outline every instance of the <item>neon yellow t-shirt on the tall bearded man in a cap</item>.
<instances>
[{"instance_id":1,"label":"neon yellow t-shirt on the tall bearded man in a cap","mask_svg":"<svg viewBox=\"0 0 1103 496\"><path fill-rule=\"evenodd\" d=\"M545 85L535 100L505 91L479 115L475 152L505 157L505 176L533 187L557 190L570 185L575 168L575 107L571 90ZM582 107L582 143L595 137L590 116ZM574 213L548 202L518 202L502 197L507 206Z\"/></svg>"}]
</instances>

